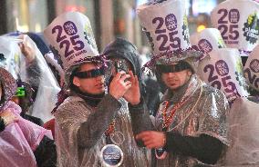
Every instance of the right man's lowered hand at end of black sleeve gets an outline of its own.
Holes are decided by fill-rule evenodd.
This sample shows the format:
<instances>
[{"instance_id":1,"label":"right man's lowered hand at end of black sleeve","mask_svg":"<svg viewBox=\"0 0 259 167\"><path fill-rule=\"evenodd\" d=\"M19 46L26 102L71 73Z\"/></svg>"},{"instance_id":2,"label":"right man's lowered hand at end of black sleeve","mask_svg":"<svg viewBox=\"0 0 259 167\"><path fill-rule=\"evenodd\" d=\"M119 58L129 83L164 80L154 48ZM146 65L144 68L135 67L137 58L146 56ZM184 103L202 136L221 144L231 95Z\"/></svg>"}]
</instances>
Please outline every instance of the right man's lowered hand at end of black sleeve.
<instances>
[{"instance_id":1,"label":"right man's lowered hand at end of black sleeve","mask_svg":"<svg viewBox=\"0 0 259 167\"><path fill-rule=\"evenodd\" d=\"M145 131L136 135L136 140L142 140L147 148L159 149L166 143L165 133L156 131Z\"/></svg>"}]
</instances>

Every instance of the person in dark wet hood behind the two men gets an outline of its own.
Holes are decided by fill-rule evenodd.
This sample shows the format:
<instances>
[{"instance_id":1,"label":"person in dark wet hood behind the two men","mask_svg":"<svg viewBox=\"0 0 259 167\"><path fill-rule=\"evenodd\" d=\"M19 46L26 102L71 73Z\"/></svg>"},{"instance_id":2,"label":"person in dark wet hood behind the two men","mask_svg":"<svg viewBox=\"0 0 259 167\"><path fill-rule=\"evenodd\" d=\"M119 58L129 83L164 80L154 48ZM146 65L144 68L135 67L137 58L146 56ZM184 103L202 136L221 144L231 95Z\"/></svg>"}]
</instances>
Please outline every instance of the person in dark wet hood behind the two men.
<instances>
[{"instance_id":1,"label":"person in dark wet hood behind the two men","mask_svg":"<svg viewBox=\"0 0 259 167\"><path fill-rule=\"evenodd\" d=\"M118 70L126 71L126 73L132 70L133 74L138 76L140 93L147 104L150 115L154 114L161 100L160 88L152 87L154 85L158 86L158 83L155 83L153 80L142 80L140 54L137 47L129 43L126 39L118 37L105 47L103 54L111 60L111 66L113 67L111 71L113 74L116 74L115 71Z\"/></svg>"}]
</instances>

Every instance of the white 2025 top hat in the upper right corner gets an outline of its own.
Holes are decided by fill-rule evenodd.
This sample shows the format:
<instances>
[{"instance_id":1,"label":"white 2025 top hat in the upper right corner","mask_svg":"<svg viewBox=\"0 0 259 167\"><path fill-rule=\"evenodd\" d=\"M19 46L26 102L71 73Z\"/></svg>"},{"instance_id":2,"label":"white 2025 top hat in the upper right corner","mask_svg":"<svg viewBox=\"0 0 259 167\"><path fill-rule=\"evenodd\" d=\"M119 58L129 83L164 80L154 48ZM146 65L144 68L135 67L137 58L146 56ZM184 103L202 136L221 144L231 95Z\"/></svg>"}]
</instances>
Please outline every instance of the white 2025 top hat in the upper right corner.
<instances>
[{"instance_id":1,"label":"white 2025 top hat in the upper right corner","mask_svg":"<svg viewBox=\"0 0 259 167\"><path fill-rule=\"evenodd\" d=\"M252 51L259 35L259 4L252 0L227 0L212 10L212 25L228 47Z\"/></svg>"}]
</instances>

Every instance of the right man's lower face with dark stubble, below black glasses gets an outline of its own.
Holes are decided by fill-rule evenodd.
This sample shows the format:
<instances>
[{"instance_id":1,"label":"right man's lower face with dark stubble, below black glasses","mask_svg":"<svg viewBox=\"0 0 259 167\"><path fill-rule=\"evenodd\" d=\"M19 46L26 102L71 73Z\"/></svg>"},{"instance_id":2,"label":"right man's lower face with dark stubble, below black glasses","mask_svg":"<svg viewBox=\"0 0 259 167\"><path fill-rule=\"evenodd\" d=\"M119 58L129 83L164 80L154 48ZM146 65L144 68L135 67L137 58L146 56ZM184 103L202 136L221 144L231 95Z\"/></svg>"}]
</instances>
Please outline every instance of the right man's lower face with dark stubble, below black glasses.
<instances>
[{"instance_id":1,"label":"right man's lower face with dark stubble, below black glasses","mask_svg":"<svg viewBox=\"0 0 259 167\"><path fill-rule=\"evenodd\" d=\"M190 79L192 72L190 70L182 70L175 73L162 73L161 79L171 90L180 88L184 83Z\"/></svg>"}]
</instances>

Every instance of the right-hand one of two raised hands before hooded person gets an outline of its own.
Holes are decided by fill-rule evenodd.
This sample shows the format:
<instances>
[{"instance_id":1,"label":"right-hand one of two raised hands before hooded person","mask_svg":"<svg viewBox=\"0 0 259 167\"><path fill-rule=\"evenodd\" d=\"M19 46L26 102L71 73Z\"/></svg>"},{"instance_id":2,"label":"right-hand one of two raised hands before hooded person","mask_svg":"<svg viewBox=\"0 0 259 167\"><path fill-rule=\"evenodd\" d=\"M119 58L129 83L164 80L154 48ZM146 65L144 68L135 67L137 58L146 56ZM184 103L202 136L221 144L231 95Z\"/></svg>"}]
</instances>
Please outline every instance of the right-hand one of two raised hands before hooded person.
<instances>
[{"instance_id":1,"label":"right-hand one of two raised hands before hooded person","mask_svg":"<svg viewBox=\"0 0 259 167\"><path fill-rule=\"evenodd\" d=\"M129 71L129 75L129 81L132 85L123 97L126 101L134 105L140 103L140 85L137 75L133 75L132 71Z\"/></svg>"}]
</instances>

